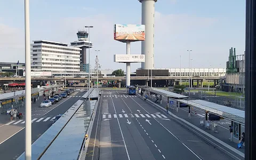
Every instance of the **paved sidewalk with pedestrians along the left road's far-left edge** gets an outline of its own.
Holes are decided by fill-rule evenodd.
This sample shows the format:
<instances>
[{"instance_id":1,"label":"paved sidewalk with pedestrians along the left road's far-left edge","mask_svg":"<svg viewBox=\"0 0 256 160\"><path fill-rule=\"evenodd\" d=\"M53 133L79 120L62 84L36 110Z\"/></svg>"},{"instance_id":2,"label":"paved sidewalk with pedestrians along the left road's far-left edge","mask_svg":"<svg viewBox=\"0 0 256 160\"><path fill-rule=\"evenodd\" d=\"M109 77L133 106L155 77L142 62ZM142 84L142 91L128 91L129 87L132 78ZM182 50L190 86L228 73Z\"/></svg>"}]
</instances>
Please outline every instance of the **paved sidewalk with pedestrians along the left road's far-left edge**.
<instances>
[{"instance_id":1,"label":"paved sidewalk with pedestrians along the left road's far-left edge","mask_svg":"<svg viewBox=\"0 0 256 160\"><path fill-rule=\"evenodd\" d=\"M47 95L49 95L49 94L45 94L45 95L46 95L45 97L47 97ZM34 109L38 108L43 100L44 100L43 95L39 97L39 100L37 98L36 103L34 103L34 102L31 103L31 110L34 110ZM25 103L24 103L24 105L25 105ZM13 108L15 108L15 106L13 106ZM22 107L20 109L18 108L17 110L20 113L23 113L23 114L26 113L26 107ZM25 118L25 117L23 116L23 118ZM10 121L11 121L11 116L9 114L7 114L7 115L1 114L0 115L0 126L4 125L4 124L6 124L6 123L8 123Z\"/></svg>"}]
</instances>

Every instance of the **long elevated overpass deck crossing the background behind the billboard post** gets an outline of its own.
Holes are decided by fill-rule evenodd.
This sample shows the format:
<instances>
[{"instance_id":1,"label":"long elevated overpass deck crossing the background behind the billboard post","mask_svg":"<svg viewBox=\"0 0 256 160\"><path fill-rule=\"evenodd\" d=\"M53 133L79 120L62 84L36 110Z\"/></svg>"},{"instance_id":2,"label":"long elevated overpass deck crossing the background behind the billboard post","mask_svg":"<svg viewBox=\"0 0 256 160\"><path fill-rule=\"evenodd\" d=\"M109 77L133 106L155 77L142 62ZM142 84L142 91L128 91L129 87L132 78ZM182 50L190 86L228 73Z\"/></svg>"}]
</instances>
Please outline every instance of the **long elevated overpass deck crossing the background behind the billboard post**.
<instances>
[{"instance_id":1,"label":"long elevated overpass deck crossing the background behind the billboard post","mask_svg":"<svg viewBox=\"0 0 256 160\"><path fill-rule=\"evenodd\" d=\"M86 80L88 77L66 77L67 81L83 81ZM64 81L64 77L31 77L31 81ZM147 76L131 76L131 80L139 81L139 80L147 80ZM150 79L150 77L149 77ZM178 76L153 76L153 80L176 80L179 81L180 77ZM189 79L189 76L181 76L181 79ZM218 80L220 79L219 76L194 76L192 77L193 80ZM92 80L97 80L97 77L92 77ZM99 77L99 80L121 80L125 81L125 77ZM1 81L25 81L25 77L20 78L12 78L12 77L1 77Z\"/></svg>"}]
</instances>

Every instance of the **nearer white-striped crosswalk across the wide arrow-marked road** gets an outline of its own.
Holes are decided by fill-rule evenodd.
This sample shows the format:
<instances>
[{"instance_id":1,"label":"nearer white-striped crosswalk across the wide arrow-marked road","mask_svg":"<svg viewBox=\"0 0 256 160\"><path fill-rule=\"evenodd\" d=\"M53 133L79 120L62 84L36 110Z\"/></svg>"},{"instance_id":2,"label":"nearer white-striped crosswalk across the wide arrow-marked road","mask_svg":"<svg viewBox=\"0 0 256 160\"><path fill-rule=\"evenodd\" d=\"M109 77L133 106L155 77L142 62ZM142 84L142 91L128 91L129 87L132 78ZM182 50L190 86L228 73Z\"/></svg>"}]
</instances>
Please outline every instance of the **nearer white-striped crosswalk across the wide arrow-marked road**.
<instances>
[{"instance_id":1,"label":"nearer white-striped crosswalk across the wide arrow-marked road","mask_svg":"<svg viewBox=\"0 0 256 160\"><path fill-rule=\"evenodd\" d=\"M168 118L164 114L103 114L102 118Z\"/></svg>"}]
</instances>

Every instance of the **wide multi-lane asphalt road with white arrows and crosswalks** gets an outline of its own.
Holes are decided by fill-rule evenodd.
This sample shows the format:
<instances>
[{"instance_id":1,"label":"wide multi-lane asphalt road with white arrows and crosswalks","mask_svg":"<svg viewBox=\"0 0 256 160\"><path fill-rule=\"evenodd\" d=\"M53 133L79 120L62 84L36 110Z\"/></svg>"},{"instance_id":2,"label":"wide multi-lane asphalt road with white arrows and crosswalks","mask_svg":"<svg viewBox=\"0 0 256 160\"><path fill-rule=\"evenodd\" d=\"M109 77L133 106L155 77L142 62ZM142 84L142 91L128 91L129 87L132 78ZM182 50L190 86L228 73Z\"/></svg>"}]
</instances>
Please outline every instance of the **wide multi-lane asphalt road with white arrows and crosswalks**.
<instances>
[{"instance_id":1,"label":"wide multi-lane asphalt road with white arrows and crosswalks","mask_svg":"<svg viewBox=\"0 0 256 160\"><path fill-rule=\"evenodd\" d=\"M102 151L99 159L231 159L139 97L117 90L104 90L102 97L101 124L109 123L110 149L100 150L111 158Z\"/></svg>"}]
</instances>

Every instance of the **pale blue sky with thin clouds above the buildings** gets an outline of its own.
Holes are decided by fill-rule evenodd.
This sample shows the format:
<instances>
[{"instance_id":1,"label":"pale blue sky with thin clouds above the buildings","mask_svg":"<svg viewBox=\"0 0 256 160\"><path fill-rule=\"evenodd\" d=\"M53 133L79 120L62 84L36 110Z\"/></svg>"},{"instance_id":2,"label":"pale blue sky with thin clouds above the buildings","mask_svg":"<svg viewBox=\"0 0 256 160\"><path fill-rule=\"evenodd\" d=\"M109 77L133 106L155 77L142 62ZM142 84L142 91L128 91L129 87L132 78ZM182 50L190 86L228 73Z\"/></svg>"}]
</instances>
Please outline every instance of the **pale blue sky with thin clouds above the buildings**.
<instances>
[{"instance_id":1,"label":"pale blue sky with thin clouds above the buildings","mask_svg":"<svg viewBox=\"0 0 256 160\"><path fill-rule=\"evenodd\" d=\"M138 0L30 0L30 41L70 44L77 30L90 29L91 63L100 50L101 69L123 69L114 54L126 44L114 40L114 24L141 24ZM0 0L0 62L25 62L24 0ZM147 36L147 35L146 35ZM245 1L158 0L155 4L155 68L226 68L230 47L245 51ZM141 54L141 42L131 43ZM87 55L88 57L88 55ZM131 63L131 71L141 63Z\"/></svg>"}]
</instances>

